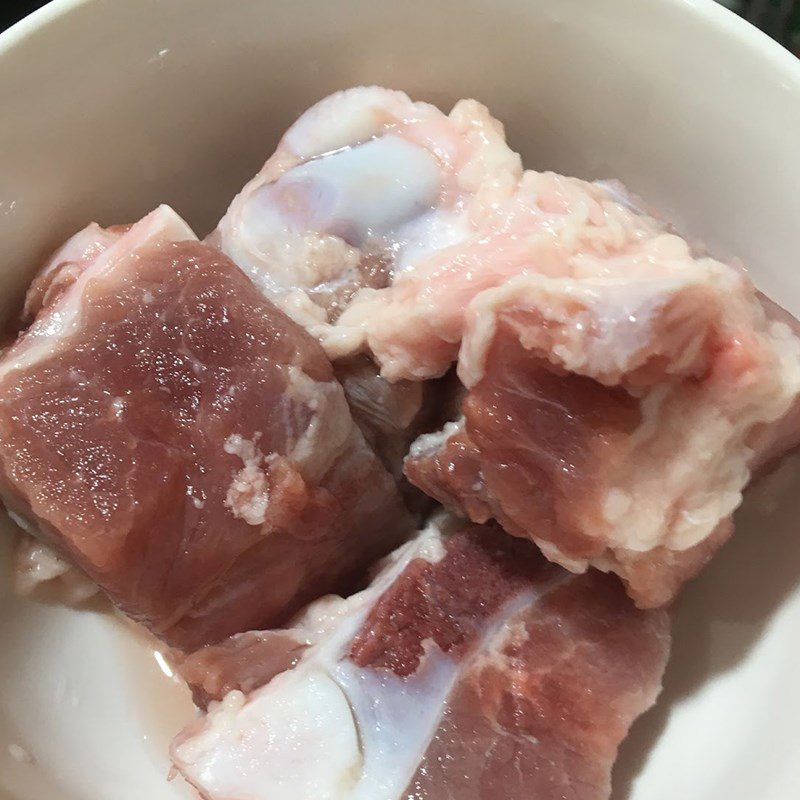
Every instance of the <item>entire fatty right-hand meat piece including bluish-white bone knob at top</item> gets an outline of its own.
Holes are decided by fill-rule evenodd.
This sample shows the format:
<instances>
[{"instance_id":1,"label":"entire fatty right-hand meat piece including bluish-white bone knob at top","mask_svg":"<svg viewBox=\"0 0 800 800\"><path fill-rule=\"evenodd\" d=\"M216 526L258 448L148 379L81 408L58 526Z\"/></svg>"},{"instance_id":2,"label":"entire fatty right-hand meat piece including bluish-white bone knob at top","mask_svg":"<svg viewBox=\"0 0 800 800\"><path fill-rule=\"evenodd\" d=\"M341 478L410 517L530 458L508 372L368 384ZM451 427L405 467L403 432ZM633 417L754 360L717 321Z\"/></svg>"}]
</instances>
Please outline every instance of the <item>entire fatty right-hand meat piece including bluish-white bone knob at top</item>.
<instances>
[{"instance_id":1,"label":"entire fatty right-hand meat piece including bluish-white bone knob at top","mask_svg":"<svg viewBox=\"0 0 800 800\"><path fill-rule=\"evenodd\" d=\"M652 606L800 438L800 342L742 272L641 206L523 172L474 101L445 116L362 87L289 129L213 239L332 358L358 359L357 404L401 408L457 364L461 433L415 447L411 481ZM409 442L398 419L367 419L383 453Z\"/></svg>"}]
</instances>

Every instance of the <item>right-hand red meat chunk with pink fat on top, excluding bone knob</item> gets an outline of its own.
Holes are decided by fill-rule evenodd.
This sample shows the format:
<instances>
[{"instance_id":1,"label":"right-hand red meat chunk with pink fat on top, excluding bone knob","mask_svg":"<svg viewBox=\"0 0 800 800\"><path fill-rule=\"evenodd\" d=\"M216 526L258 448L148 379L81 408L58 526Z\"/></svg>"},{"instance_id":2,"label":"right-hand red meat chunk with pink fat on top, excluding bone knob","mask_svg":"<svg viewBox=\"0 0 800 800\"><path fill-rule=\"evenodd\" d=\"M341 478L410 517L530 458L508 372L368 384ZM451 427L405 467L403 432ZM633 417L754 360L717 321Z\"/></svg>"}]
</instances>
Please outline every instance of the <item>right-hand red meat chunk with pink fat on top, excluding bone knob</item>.
<instances>
[{"instance_id":1,"label":"right-hand red meat chunk with pink fat on top, excluding bone knob","mask_svg":"<svg viewBox=\"0 0 800 800\"><path fill-rule=\"evenodd\" d=\"M464 421L414 447L412 483L667 603L797 419L800 341L741 271L602 187L526 172L484 211L465 241L357 294L328 338L389 380L457 361Z\"/></svg>"}]
</instances>

